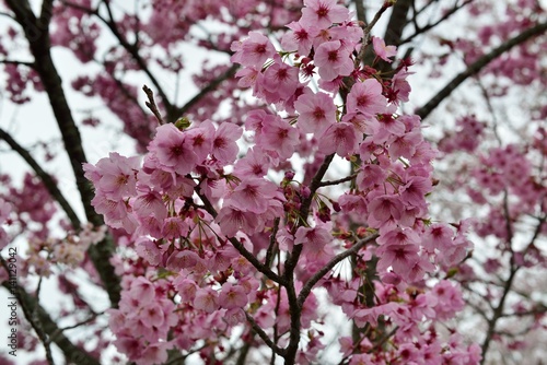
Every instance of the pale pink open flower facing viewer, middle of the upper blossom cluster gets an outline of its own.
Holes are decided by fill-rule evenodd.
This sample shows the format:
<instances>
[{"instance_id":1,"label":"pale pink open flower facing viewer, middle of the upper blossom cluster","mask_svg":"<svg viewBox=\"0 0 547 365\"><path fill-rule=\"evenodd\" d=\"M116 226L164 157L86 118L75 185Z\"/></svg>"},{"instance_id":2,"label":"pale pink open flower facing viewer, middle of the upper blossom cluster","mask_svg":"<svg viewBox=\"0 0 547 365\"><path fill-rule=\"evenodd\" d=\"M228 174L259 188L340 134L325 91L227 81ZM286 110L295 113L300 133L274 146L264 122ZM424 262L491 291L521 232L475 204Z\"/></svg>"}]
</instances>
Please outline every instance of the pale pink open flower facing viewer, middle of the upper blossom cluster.
<instances>
[{"instance_id":1,"label":"pale pink open flower facing viewer, middle of the upper blossom cluster","mask_svg":"<svg viewBox=\"0 0 547 365\"><path fill-rule=\"evenodd\" d=\"M294 108L300 114L298 127L306 133L321 136L336 122L336 106L325 93L304 94L296 99Z\"/></svg>"}]
</instances>

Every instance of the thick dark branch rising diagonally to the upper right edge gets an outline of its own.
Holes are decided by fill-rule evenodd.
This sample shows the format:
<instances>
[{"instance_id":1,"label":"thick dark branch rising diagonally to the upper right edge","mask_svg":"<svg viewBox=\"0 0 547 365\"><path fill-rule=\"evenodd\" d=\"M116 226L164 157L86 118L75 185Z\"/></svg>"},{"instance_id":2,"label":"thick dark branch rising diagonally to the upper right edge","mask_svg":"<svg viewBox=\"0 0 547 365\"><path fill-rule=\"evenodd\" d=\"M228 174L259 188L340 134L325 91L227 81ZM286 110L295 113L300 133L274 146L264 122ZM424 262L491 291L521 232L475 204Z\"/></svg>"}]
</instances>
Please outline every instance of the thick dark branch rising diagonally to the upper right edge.
<instances>
[{"instance_id":1,"label":"thick dark branch rising diagonally to the upper right edge","mask_svg":"<svg viewBox=\"0 0 547 365\"><path fill-rule=\"evenodd\" d=\"M465 80L478 73L493 59L507 52L514 46L520 45L537 35L540 35L545 31L547 31L547 22L536 24L535 26L532 26L526 31L522 32L517 36L507 40L498 48L491 50L489 54L480 57L473 64L470 64L464 72L459 73L453 80L451 80L446 84L446 86L444 86L443 90L441 90L435 96L433 96L431 101L429 101L424 106L416 110L416 114L420 116L422 120L426 119L431 114L431 111L433 111L439 106L439 104L441 104L442 101L449 97L450 94L452 94L452 92L456 90L457 86L459 86Z\"/></svg>"}]
</instances>

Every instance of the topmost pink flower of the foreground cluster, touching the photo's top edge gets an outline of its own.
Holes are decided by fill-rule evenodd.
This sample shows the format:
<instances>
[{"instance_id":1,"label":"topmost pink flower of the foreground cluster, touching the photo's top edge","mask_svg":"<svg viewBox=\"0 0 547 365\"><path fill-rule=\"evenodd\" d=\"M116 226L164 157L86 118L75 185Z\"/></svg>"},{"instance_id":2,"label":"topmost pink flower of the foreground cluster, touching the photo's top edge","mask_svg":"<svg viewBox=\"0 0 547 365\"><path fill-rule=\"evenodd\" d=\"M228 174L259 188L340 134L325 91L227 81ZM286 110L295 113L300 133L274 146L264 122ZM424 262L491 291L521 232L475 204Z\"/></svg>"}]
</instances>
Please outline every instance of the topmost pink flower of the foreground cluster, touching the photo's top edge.
<instances>
[{"instance_id":1,"label":"topmost pink flower of the foreground cluster, touching the photo's top edge","mask_svg":"<svg viewBox=\"0 0 547 365\"><path fill-rule=\"evenodd\" d=\"M304 0L302 9L302 25L315 25L326 30L333 23L341 23L349 16L347 8L336 3L336 0Z\"/></svg>"}]
</instances>

